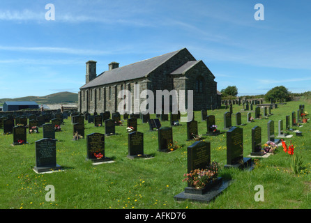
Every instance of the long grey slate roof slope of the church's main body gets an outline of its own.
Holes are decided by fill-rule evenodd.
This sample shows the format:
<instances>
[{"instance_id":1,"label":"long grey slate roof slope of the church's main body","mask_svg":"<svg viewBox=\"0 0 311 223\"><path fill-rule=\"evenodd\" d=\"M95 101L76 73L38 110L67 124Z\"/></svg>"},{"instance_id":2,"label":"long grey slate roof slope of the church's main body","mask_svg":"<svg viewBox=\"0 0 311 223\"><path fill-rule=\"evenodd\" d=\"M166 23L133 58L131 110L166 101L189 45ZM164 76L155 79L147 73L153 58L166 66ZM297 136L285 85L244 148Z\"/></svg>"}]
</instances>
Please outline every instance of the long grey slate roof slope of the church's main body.
<instances>
[{"instance_id":1,"label":"long grey slate roof slope of the church's main body","mask_svg":"<svg viewBox=\"0 0 311 223\"><path fill-rule=\"evenodd\" d=\"M91 82L84 84L84 86L82 86L80 89L145 77L146 75L149 75L149 73L152 72L155 68L158 68L158 66L171 59L172 56L176 55L183 49L163 54L161 56L155 56L151 59L132 63L127 66L115 68L113 70L107 70L102 72L95 79L91 80Z\"/></svg>"}]
</instances>

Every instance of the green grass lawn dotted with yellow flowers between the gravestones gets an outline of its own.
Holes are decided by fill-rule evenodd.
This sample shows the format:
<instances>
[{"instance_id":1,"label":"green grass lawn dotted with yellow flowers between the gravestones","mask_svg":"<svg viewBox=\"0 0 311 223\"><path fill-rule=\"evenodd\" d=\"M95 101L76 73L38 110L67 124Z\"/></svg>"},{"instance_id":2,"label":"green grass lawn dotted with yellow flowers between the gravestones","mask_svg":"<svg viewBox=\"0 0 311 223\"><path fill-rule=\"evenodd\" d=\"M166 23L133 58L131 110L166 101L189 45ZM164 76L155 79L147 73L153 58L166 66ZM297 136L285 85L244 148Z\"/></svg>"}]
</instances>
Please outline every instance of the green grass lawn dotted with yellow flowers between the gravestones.
<instances>
[{"instance_id":1,"label":"green grass lawn dotted with yellow flowers between the gravestones","mask_svg":"<svg viewBox=\"0 0 311 223\"><path fill-rule=\"evenodd\" d=\"M268 119L255 120L243 128L244 156L251 152L251 129L261 126L262 143L267 139L267 122L275 121L275 134L278 134L278 120L285 123L285 116L297 112L298 106L304 104L305 111L310 112L310 104L306 102L287 102L273 109L273 116ZM242 106L234 105L233 112L240 112ZM225 109L208 111L215 115L218 129L223 128ZM263 110L261 109L261 114ZM247 112L242 113L242 122L246 123ZM252 112L254 116L254 112ZM155 118L155 115L151 115ZM232 116L232 124L235 124ZM195 112L199 134L206 133L206 123L201 121L200 112ZM309 121L310 122L310 121ZM85 122L86 123L86 122ZM221 169L220 175L232 179L232 184L214 201L208 204L176 201L174 196L183 192L186 183L182 182L187 171L187 147L194 141L186 141L186 124L173 128L174 141L182 148L172 153L158 152L158 134L149 131L149 124L138 120L138 130L144 132L144 153L153 155L153 159L130 160L128 155L128 133L126 122L116 127L116 133L105 137L105 155L115 162L93 166L86 160L86 139L73 139L73 125L70 119L65 120L62 131L56 132L56 160L63 171L52 174L36 174L35 141L43 137L40 133L28 134L29 144L11 146L13 135L0 134L0 208L82 208L82 209L142 209L142 208L311 208L311 123L302 128L303 137L292 137L295 153L303 155L303 169L293 174L290 157L280 146L275 155L256 161L255 169L243 171L239 169ZM169 126L169 121L162 122ZM104 127L96 128L93 124L85 124L85 134L93 132L105 133ZM1 133L3 130L1 130ZM226 134L217 137L205 137L211 141L211 160L226 164ZM46 201L45 187L53 185L55 201ZM256 185L264 187L264 201L255 201ZM310 197L309 197L310 194Z\"/></svg>"}]
</instances>

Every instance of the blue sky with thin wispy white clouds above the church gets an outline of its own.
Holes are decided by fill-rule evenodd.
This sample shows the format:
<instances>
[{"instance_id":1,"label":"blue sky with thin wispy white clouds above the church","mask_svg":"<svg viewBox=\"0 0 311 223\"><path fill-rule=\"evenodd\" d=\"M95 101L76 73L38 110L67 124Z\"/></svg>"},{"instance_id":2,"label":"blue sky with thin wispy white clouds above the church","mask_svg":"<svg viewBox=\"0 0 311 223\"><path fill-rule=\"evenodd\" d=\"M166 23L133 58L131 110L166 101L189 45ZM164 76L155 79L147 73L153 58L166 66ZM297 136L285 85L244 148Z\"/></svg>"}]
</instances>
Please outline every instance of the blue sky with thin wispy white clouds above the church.
<instances>
[{"instance_id":1,"label":"blue sky with thin wispy white clouds above the church","mask_svg":"<svg viewBox=\"0 0 311 223\"><path fill-rule=\"evenodd\" d=\"M112 61L184 47L218 91L311 91L310 8L310 0L1 1L0 98L78 93L86 61L97 61L99 75Z\"/></svg>"}]
</instances>

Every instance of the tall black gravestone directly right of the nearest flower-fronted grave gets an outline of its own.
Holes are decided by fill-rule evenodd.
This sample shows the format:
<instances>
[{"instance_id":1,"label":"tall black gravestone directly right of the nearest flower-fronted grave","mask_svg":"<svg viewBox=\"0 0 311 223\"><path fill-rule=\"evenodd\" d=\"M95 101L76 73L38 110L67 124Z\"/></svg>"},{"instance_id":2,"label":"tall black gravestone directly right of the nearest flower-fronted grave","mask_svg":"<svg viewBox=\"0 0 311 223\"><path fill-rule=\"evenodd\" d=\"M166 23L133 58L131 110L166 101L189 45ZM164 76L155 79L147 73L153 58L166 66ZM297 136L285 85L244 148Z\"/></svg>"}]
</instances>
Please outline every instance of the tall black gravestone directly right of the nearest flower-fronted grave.
<instances>
[{"instance_id":1,"label":"tall black gravestone directly right of the nearest flower-fronted grave","mask_svg":"<svg viewBox=\"0 0 311 223\"><path fill-rule=\"evenodd\" d=\"M243 157L243 128L233 127L227 132L227 164L225 168L252 166L252 159Z\"/></svg>"}]
</instances>

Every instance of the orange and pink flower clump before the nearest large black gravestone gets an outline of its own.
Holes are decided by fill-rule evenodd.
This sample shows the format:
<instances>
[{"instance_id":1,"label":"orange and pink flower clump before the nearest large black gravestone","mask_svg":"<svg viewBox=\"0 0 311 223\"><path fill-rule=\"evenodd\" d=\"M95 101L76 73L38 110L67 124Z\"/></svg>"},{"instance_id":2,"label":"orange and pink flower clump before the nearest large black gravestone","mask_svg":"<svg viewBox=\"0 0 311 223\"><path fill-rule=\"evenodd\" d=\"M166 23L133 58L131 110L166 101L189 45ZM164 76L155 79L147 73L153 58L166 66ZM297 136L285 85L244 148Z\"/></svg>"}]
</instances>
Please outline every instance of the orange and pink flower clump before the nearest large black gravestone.
<instances>
[{"instance_id":1,"label":"orange and pink flower clump before the nearest large black gravestone","mask_svg":"<svg viewBox=\"0 0 311 223\"><path fill-rule=\"evenodd\" d=\"M191 187L196 189L201 189L205 185L215 178L218 178L220 169L220 164L218 162L212 162L206 169L194 169L188 174L183 174L186 176L182 181L190 183Z\"/></svg>"}]
</instances>

